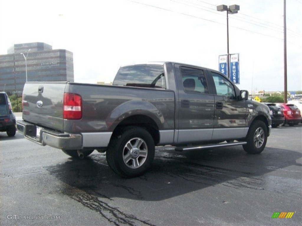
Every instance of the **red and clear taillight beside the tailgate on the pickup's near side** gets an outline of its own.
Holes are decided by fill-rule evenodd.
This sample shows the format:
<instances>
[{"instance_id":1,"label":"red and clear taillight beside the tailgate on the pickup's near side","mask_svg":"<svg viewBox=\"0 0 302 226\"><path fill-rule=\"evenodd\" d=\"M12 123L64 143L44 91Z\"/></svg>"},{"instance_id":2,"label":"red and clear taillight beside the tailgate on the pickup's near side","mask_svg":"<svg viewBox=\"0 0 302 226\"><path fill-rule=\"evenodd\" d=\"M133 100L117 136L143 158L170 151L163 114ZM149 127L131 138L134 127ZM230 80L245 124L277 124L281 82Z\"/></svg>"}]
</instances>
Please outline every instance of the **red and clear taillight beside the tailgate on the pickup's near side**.
<instances>
[{"instance_id":1,"label":"red and clear taillight beside the tailgate on the pickup's near side","mask_svg":"<svg viewBox=\"0 0 302 226\"><path fill-rule=\"evenodd\" d=\"M82 98L78 94L64 93L63 118L81 119L82 118Z\"/></svg>"}]
</instances>

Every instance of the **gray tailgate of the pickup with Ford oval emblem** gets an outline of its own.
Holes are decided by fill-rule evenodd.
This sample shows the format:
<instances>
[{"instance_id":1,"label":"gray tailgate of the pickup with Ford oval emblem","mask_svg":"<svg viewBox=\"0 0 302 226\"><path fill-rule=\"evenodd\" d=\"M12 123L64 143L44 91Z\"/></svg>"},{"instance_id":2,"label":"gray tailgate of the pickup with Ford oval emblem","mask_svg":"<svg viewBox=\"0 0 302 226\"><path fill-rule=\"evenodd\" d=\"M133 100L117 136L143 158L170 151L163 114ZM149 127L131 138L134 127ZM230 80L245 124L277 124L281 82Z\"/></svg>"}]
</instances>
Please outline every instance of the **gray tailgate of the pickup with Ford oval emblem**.
<instances>
[{"instance_id":1,"label":"gray tailgate of the pickup with Ford oval emblem","mask_svg":"<svg viewBox=\"0 0 302 226\"><path fill-rule=\"evenodd\" d=\"M23 120L63 131L63 96L67 82L27 82L23 90Z\"/></svg>"}]
</instances>

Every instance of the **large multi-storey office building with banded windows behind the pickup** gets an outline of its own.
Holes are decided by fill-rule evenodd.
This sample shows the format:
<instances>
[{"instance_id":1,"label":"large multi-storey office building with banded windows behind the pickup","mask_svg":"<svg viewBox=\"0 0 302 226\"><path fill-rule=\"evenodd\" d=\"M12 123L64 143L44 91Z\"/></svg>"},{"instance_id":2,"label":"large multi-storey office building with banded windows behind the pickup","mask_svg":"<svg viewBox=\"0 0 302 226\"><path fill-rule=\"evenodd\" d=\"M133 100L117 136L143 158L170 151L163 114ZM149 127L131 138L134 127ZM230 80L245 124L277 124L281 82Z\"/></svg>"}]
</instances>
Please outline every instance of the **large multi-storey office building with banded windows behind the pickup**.
<instances>
[{"instance_id":1,"label":"large multi-storey office building with banded windows behind the pickup","mask_svg":"<svg viewBox=\"0 0 302 226\"><path fill-rule=\"evenodd\" d=\"M73 54L43 42L15 44L0 55L0 90L22 92L26 81L74 81ZM23 54L22 54L23 53ZM25 60L26 58L26 60Z\"/></svg>"}]
</instances>

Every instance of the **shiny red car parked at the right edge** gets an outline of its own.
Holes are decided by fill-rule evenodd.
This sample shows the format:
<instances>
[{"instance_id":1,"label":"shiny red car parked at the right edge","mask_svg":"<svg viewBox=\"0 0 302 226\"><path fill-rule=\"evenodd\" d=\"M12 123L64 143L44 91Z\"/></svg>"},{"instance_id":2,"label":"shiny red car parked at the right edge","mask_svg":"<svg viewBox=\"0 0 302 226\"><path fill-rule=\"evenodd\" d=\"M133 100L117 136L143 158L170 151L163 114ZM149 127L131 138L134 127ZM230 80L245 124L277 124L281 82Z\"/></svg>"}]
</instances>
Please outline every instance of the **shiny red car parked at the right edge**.
<instances>
[{"instance_id":1,"label":"shiny red car parked at the right edge","mask_svg":"<svg viewBox=\"0 0 302 226\"><path fill-rule=\"evenodd\" d=\"M296 105L280 103L278 106L282 109L285 117L283 126L286 123L290 126L297 125L302 120L301 112Z\"/></svg>"}]
</instances>

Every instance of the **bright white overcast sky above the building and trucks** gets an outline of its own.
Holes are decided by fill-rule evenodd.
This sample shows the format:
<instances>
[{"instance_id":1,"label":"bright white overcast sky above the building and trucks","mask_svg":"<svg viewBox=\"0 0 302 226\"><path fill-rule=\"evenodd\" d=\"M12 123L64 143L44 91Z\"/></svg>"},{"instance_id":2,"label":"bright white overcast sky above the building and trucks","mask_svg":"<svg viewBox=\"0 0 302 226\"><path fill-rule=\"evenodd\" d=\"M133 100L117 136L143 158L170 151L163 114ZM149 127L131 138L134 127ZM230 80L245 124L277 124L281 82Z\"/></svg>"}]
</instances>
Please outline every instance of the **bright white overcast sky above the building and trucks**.
<instances>
[{"instance_id":1,"label":"bright white overcast sky above the building and trucks","mask_svg":"<svg viewBox=\"0 0 302 226\"><path fill-rule=\"evenodd\" d=\"M240 89L284 90L283 0L0 0L0 54L45 42L73 52L76 82L111 82L121 65L177 61L218 70L239 53ZM302 0L287 0L288 90L302 90Z\"/></svg>"}]
</instances>

